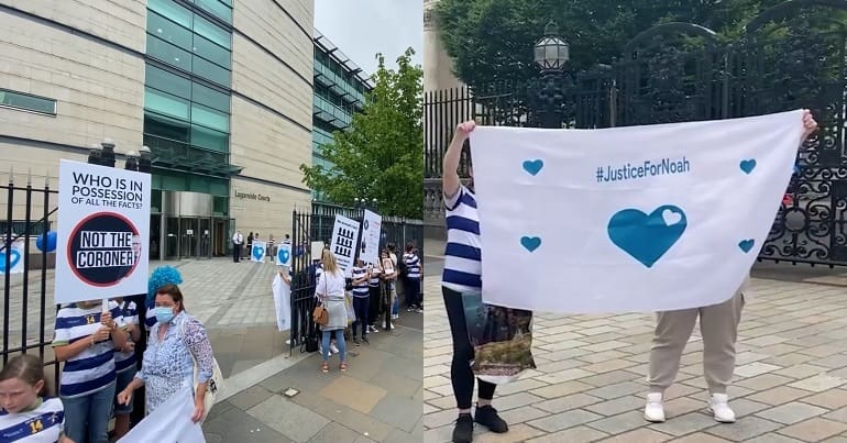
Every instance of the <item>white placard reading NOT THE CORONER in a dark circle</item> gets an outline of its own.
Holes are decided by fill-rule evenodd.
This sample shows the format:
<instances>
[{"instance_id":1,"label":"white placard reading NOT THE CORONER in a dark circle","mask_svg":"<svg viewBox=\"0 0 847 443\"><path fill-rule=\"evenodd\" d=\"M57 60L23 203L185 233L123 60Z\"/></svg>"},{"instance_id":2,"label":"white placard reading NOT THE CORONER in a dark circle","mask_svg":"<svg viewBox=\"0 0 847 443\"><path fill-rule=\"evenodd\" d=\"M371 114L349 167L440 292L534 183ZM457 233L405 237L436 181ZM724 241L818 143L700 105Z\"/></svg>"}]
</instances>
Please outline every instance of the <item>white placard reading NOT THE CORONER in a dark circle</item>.
<instances>
[{"instance_id":1,"label":"white placard reading NOT THE CORONER in a dark circle","mask_svg":"<svg viewBox=\"0 0 847 443\"><path fill-rule=\"evenodd\" d=\"M150 175L59 164L56 303L144 294Z\"/></svg>"}]
</instances>

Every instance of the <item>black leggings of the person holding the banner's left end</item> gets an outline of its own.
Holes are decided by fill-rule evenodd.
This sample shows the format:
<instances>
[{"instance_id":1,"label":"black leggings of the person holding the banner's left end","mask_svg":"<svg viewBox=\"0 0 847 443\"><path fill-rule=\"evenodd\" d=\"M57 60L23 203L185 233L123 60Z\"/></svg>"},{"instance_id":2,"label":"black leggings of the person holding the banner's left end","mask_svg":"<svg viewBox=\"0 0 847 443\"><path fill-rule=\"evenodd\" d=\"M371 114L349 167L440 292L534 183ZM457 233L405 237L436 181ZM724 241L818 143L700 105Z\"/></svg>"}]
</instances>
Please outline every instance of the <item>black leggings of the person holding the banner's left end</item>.
<instances>
[{"instance_id":1,"label":"black leggings of the person holding the banner's left end","mask_svg":"<svg viewBox=\"0 0 847 443\"><path fill-rule=\"evenodd\" d=\"M450 381L453 384L453 395L459 409L471 409L473 399L474 377L471 369L473 361L473 345L468 336L468 324L464 318L464 304L462 294L441 287L444 296L447 319L450 321L450 333L453 336L453 364L450 367ZM480 380L479 397L483 400L494 398L494 389L497 385Z\"/></svg>"}]
</instances>

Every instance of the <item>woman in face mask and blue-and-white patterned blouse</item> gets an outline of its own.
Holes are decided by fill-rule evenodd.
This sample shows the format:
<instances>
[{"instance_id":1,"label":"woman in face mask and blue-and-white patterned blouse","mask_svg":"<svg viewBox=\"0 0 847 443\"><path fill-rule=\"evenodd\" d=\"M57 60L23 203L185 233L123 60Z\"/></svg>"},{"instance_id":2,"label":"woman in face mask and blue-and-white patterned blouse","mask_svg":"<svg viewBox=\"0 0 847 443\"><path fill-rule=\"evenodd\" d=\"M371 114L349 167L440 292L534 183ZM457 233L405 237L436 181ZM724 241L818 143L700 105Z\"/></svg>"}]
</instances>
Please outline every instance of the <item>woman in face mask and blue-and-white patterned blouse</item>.
<instances>
[{"instance_id":1,"label":"woman in face mask and blue-and-white patterned blouse","mask_svg":"<svg viewBox=\"0 0 847 443\"><path fill-rule=\"evenodd\" d=\"M194 414L191 420L199 423L206 411L206 389L215 370L215 356L206 328L185 309L183 292L179 287L166 281L182 281L176 269L165 273L156 269L151 276L155 288L155 315L157 323L150 331L150 342L144 351L141 370L135 374L130 385L118 394L118 402L128 405L132 392L141 386L146 387L146 413L150 414L177 394L183 387L195 387L195 365L197 380ZM195 363L196 362L196 363Z\"/></svg>"}]
</instances>

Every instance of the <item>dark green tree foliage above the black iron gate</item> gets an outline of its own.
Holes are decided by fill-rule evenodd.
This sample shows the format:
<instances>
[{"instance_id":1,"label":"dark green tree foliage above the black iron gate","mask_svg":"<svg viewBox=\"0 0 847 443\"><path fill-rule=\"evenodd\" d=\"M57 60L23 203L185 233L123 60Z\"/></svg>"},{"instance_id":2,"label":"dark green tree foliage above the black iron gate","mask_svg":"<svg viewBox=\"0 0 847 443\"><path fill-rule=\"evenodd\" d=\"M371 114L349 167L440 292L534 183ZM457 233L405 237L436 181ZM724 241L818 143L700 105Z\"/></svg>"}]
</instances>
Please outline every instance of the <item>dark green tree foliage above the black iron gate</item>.
<instances>
[{"instance_id":1,"label":"dark green tree foliage above the black iron gate","mask_svg":"<svg viewBox=\"0 0 847 443\"><path fill-rule=\"evenodd\" d=\"M524 81L538 75L532 46L554 21L579 71L622 57L641 31L667 22L706 26L735 38L780 0L440 0L435 10L453 73L468 85Z\"/></svg>"}]
</instances>

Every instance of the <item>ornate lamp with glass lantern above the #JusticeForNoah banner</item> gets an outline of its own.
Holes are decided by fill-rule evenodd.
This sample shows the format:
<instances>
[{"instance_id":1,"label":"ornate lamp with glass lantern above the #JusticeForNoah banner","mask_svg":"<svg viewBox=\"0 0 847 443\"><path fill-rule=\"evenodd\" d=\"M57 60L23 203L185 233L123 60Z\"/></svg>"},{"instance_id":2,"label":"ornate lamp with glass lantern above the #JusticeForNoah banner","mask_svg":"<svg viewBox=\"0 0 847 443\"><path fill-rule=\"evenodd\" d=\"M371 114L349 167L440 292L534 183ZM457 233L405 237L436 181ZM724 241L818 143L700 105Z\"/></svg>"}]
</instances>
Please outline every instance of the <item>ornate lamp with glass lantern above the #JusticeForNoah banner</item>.
<instances>
[{"instance_id":1,"label":"ornate lamp with glass lantern above the #JusticeForNoah banner","mask_svg":"<svg viewBox=\"0 0 847 443\"><path fill-rule=\"evenodd\" d=\"M570 45L559 36L559 26L549 22L544 26L544 35L536 42L534 49L534 59L541 70L538 86L530 91L535 101L535 124L561 129L568 81L564 65L570 59Z\"/></svg>"}]
</instances>

